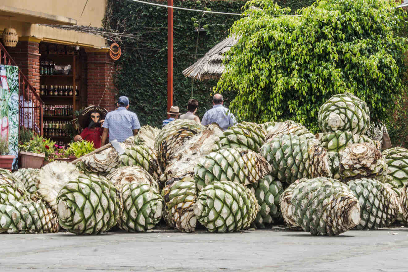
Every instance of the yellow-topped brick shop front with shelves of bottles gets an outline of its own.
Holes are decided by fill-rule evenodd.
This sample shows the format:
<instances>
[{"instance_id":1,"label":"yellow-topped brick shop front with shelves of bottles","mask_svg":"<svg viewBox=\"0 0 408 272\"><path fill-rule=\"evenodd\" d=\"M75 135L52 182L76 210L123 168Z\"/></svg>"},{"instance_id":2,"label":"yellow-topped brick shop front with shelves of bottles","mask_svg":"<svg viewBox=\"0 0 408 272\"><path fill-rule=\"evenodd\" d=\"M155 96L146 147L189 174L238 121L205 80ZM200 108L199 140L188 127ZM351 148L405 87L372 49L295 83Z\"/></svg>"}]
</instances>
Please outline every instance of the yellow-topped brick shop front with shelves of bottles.
<instances>
[{"instance_id":1,"label":"yellow-topped brick shop front with shelves of bottles","mask_svg":"<svg viewBox=\"0 0 408 272\"><path fill-rule=\"evenodd\" d=\"M16 29L18 43L6 50L43 102L42 107L30 98L20 102L35 107L33 114L23 112L21 118L32 118L30 128L64 144L69 142L64 128L76 111L89 104L114 109L115 69L106 39L59 27L102 27L106 1L94 1L85 9L83 2L76 0L59 2L58 7L41 2L18 7L18 2L6 0L0 6L0 16L4 16L4 20L0 17L0 42L2 29ZM27 120L20 121L23 125Z\"/></svg>"}]
</instances>

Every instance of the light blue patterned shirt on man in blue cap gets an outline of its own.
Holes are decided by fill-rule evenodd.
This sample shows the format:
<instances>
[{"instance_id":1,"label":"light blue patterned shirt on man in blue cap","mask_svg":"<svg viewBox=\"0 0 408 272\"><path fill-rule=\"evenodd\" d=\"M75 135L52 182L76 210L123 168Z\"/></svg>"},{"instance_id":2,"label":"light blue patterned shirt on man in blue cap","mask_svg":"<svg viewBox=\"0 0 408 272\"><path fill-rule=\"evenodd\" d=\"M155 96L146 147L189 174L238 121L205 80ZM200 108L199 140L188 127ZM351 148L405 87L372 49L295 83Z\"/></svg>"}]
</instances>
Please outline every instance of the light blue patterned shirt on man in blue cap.
<instances>
[{"instance_id":1,"label":"light blue patterned shirt on man in blue cap","mask_svg":"<svg viewBox=\"0 0 408 272\"><path fill-rule=\"evenodd\" d=\"M109 129L109 142L114 139L124 142L133 136L134 129L140 128L140 123L136 113L128 111L125 107L119 107L106 115L102 128Z\"/></svg>"}]
</instances>

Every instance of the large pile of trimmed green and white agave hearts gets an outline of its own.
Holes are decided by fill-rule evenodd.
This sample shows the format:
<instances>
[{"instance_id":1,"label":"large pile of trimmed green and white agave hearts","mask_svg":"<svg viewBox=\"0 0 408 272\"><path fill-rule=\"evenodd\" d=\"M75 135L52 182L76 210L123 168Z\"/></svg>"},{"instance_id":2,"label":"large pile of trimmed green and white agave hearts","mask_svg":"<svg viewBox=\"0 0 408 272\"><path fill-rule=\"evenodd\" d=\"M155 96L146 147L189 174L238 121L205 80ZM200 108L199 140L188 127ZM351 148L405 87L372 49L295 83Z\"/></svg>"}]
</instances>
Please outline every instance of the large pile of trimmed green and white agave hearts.
<instances>
[{"instance_id":1,"label":"large pile of trimmed green and white agave hearts","mask_svg":"<svg viewBox=\"0 0 408 272\"><path fill-rule=\"evenodd\" d=\"M377 229L408 216L408 150L379 150L366 103L335 95L313 135L293 121L221 131L175 120L143 126L77 164L0 171L0 230L145 232L164 219L183 232L265 228L282 219L314 235Z\"/></svg>"}]
</instances>

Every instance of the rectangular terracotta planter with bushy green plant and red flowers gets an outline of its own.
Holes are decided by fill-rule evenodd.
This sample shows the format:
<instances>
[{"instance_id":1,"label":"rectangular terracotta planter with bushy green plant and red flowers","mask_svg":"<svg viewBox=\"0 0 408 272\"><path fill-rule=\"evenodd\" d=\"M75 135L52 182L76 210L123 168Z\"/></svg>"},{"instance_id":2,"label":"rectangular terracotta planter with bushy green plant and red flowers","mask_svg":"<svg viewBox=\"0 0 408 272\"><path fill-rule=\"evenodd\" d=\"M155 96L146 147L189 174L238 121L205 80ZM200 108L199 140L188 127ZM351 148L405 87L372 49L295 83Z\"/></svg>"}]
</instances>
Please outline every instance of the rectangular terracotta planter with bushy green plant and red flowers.
<instances>
[{"instance_id":1,"label":"rectangular terracotta planter with bushy green plant and red flowers","mask_svg":"<svg viewBox=\"0 0 408 272\"><path fill-rule=\"evenodd\" d=\"M40 168L44 160L52 159L55 142L35 135L29 142L20 146L22 168Z\"/></svg>"}]
</instances>

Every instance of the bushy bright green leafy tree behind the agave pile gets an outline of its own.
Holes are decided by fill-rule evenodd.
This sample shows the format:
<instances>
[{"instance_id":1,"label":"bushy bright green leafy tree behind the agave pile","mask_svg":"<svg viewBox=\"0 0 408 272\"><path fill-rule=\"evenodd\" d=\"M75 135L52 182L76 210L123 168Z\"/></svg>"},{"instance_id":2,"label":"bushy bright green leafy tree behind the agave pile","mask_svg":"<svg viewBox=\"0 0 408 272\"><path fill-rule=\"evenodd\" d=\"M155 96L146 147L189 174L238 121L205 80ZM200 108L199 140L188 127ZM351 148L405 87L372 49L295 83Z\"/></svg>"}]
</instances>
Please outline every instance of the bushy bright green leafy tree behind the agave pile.
<instances>
[{"instance_id":1,"label":"bushy bright green leafy tree behind the agave pile","mask_svg":"<svg viewBox=\"0 0 408 272\"><path fill-rule=\"evenodd\" d=\"M246 3L231 27L239 35L214 91L236 90L240 120L293 119L318 130L319 107L346 91L385 120L404 92L404 11L389 0L317 1L299 10L272 0Z\"/></svg>"}]
</instances>

